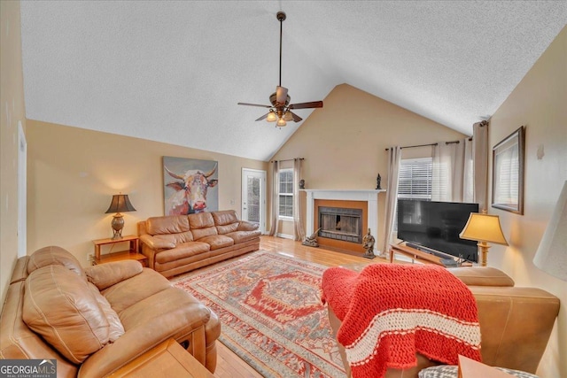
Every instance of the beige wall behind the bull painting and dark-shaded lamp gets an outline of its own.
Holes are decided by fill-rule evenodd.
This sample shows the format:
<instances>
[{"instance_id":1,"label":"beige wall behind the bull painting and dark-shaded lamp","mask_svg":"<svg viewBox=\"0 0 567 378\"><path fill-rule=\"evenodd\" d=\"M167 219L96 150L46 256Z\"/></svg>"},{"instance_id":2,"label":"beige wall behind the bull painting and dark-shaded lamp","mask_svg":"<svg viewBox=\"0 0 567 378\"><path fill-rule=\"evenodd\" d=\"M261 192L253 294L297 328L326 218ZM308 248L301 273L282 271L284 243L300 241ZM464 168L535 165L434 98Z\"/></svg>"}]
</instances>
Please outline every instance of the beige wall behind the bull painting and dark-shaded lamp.
<instances>
[{"instance_id":1,"label":"beige wall behind the bull painting and dark-shaded lamp","mask_svg":"<svg viewBox=\"0 0 567 378\"><path fill-rule=\"evenodd\" d=\"M242 168L267 167L261 161L35 120L27 120L27 143L28 251L57 244L84 265L93 252L92 240L113 235L113 214L105 214L113 194L128 194L136 208L124 213L122 235L136 234L139 220L163 215L163 156L217 160L219 209L238 213Z\"/></svg>"}]
</instances>

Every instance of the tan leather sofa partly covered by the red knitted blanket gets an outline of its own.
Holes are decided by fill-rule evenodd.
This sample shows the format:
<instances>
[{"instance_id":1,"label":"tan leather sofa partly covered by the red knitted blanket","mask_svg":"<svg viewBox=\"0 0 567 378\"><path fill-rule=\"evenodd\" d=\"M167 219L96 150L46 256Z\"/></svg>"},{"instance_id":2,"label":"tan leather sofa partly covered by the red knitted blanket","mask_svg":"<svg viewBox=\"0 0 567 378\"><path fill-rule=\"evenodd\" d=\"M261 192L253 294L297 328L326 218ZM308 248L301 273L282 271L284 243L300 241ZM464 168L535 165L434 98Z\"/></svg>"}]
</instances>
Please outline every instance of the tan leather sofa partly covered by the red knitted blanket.
<instances>
[{"instance_id":1,"label":"tan leather sofa partly covered by the red knitted blanket","mask_svg":"<svg viewBox=\"0 0 567 378\"><path fill-rule=\"evenodd\" d=\"M534 374L546 349L549 335L559 313L559 298L542 289L514 286L514 281L493 267L449 269L474 295L478 307L481 355L489 366L508 367ZM341 320L328 306L330 327L337 337ZM338 348L351 376L343 345ZM425 367L439 365L416 353L417 365L400 370L389 368L386 378L417 378Z\"/></svg>"}]
</instances>

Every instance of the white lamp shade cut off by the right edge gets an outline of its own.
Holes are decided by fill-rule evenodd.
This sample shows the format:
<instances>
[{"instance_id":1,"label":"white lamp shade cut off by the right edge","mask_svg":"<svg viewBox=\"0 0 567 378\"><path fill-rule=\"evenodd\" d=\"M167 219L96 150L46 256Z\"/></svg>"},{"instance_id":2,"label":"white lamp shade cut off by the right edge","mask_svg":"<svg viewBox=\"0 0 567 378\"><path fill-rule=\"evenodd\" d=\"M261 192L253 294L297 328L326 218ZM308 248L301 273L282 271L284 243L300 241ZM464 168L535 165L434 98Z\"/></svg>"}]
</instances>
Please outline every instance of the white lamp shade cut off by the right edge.
<instances>
[{"instance_id":1,"label":"white lamp shade cut off by the right edge","mask_svg":"<svg viewBox=\"0 0 567 378\"><path fill-rule=\"evenodd\" d=\"M533 264L560 280L567 281L567 181L555 204L551 220L535 252Z\"/></svg>"}]
</instances>

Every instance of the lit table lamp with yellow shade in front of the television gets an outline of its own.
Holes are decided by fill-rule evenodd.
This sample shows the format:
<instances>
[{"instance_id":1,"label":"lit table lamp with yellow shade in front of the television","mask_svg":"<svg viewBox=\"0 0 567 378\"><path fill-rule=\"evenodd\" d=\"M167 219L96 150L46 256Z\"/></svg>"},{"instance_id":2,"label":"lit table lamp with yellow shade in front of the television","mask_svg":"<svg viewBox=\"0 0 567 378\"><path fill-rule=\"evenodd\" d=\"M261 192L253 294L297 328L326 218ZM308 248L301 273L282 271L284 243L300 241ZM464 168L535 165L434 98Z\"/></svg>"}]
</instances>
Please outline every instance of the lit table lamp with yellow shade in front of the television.
<instances>
[{"instance_id":1,"label":"lit table lamp with yellow shade in front of the television","mask_svg":"<svg viewBox=\"0 0 567 378\"><path fill-rule=\"evenodd\" d=\"M485 210L471 212L467 224L462 228L461 239L475 240L482 255L481 266L486 266L490 244L508 245L502 233L498 215L489 215Z\"/></svg>"}]
</instances>

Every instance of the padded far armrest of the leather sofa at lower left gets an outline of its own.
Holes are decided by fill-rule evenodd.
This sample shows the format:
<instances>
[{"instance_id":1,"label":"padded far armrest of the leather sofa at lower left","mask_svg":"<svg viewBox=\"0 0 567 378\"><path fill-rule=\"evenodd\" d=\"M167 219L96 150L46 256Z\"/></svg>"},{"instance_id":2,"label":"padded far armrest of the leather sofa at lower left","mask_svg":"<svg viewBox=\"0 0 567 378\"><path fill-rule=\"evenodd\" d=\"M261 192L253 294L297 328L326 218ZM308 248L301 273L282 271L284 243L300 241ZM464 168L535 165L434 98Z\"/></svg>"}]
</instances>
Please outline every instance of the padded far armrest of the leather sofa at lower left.
<instances>
[{"instance_id":1,"label":"padded far armrest of the leather sofa at lower left","mask_svg":"<svg viewBox=\"0 0 567 378\"><path fill-rule=\"evenodd\" d=\"M141 274L142 270L143 266L139 261L124 260L89 266L85 269L85 274L87 274L89 282L94 283L97 289L104 290L118 282Z\"/></svg>"}]
</instances>

